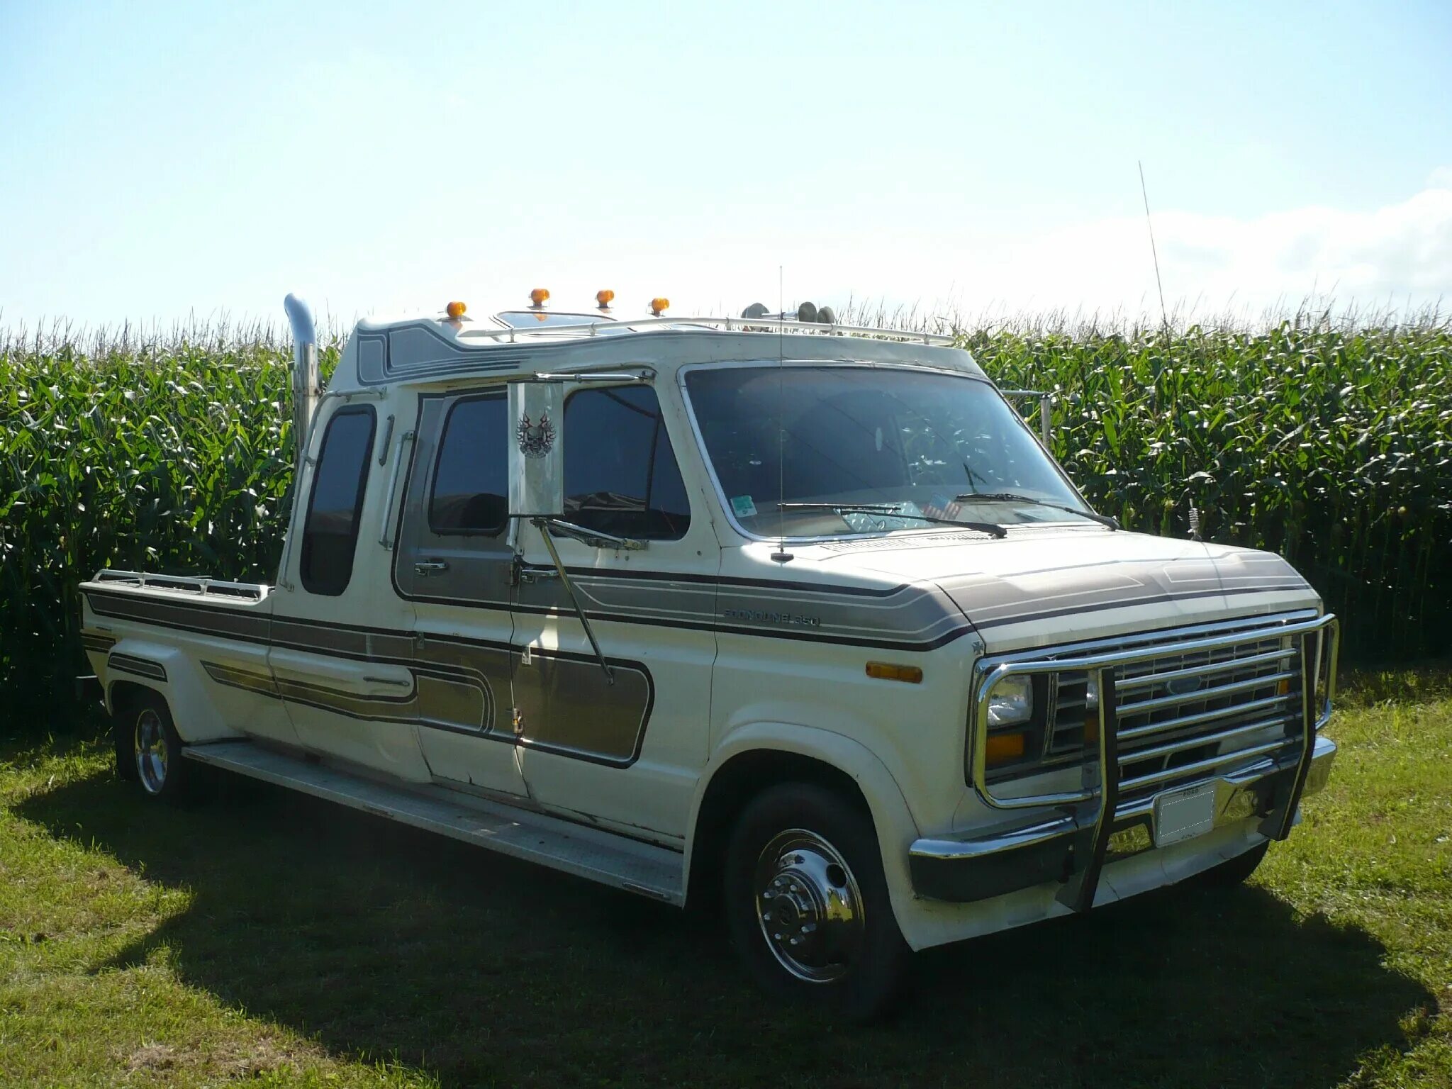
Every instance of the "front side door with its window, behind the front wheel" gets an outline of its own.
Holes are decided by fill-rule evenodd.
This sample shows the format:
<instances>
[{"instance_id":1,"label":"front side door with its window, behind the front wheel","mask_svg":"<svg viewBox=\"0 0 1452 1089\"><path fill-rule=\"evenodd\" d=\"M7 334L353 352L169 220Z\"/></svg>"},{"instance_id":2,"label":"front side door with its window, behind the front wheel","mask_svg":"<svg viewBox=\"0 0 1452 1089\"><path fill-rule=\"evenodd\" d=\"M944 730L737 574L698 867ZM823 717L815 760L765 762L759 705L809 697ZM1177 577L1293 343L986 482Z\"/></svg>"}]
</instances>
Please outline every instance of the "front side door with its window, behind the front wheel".
<instances>
[{"instance_id":1,"label":"front side door with its window, behind the front wheel","mask_svg":"<svg viewBox=\"0 0 1452 1089\"><path fill-rule=\"evenodd\" d=\"M653 388L571 392L563 456L565 520L648 543L555 534L607 678L539 529L521 521L513 694L524 781L544 806L684 838L707 751L720 546L704 514L691 517Z\"/></svg>"}]
</instances>

